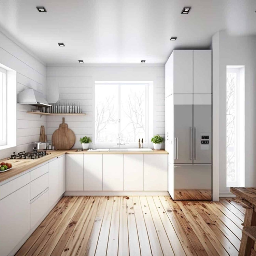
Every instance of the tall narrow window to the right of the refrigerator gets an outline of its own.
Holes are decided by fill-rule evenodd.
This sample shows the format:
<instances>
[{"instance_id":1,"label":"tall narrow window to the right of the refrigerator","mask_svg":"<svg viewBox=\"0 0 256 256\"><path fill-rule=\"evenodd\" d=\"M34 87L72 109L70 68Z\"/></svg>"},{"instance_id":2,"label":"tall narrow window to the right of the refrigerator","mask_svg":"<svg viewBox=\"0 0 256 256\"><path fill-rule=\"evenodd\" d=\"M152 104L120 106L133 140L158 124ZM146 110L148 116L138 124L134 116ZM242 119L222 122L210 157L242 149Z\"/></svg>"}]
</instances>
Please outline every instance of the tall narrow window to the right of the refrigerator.
<instances>
[{"instance_id":1,"label":"tall narrow window to the right of the refrigerator","mask_svg":"<svg viewBox=\"0 0 256 256\"><path fill-rule=\"evenodd\" d=\"M227 66L227 186L244 187L244 67Z\"/></svg>"}]
</instances>

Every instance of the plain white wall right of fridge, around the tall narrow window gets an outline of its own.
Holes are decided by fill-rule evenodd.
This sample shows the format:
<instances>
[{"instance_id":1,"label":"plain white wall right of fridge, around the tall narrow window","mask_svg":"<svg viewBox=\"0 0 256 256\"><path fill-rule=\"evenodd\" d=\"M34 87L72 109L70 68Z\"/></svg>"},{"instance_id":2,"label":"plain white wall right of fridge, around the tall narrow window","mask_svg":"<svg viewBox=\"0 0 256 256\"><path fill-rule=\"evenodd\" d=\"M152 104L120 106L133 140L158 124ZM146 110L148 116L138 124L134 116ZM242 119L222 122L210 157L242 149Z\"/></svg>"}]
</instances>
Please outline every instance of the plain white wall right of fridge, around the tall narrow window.
<instances>
[{"instance_id":1,"label":"plain white wall right of fridge, around the tall narrow window","mask_svg":"<svg viewBox=\"0 0 256 256\"><path fill-rule=\"evenodd\" d=\"M220 196L226 186L226 66L245 66L245 187L256 187L256 36L213 37L213 177L219 169ZM214 179L213 179L214 181Z\"/></svg>"}]
</instances>

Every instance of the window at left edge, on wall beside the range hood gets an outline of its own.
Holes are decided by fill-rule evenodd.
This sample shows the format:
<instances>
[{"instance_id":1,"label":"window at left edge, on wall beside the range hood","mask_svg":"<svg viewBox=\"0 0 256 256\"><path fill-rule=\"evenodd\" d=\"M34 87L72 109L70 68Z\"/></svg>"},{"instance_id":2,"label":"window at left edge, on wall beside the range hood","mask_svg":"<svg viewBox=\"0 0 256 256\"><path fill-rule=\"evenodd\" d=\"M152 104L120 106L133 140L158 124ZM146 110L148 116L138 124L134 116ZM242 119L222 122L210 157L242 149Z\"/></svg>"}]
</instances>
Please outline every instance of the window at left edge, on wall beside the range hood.
<instances>
[{"instance_id":1,"label":"window at left edge, on wall beside the range hood","mask_svg":"<svg viewBox=\"0 0 256 256\"><path fill-rule=\"evenodd\" d=\"M6 145L6 70L0 68L0 146Z\"/></svg>"}]
</instances>

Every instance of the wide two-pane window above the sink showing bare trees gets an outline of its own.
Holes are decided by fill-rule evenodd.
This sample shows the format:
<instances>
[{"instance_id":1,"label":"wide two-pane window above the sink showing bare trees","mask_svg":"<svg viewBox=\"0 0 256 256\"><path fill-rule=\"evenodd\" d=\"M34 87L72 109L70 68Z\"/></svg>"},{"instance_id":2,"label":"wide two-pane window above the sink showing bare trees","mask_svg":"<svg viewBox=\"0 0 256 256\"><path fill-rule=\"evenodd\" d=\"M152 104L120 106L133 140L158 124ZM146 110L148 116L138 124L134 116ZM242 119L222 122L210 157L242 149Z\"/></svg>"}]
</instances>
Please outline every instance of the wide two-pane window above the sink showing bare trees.
<instances>
[{"instance_id":1,"label":"wide two-pane window above the sink showing bare trees","mask_svg":"<svg viewBox=\"0 0 256 256\"><path fill-rule=\"evenodd\" d=\"M95 82L94 138L106 146L148 144L148 83Z\"/></svg>"}]
</instances>

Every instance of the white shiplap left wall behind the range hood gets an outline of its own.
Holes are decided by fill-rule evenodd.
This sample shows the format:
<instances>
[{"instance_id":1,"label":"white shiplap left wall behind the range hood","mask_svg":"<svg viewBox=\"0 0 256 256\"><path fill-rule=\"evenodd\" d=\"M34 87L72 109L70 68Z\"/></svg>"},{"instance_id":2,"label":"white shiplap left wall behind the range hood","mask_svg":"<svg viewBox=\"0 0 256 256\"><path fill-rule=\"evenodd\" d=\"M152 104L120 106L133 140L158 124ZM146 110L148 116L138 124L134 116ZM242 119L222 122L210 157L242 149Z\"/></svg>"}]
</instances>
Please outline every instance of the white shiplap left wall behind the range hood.
<instances>
[{"instance_id":1,"label":"white shiplap left wall behind the range hood","mask_svg":"<svg viewBox=\"0 0 256 256\"><path fill-rule=\"evenodd\" d=\"M17 72L17 93L33 88L46 95L46 67L19 45L0 32L0 63ZM26 113L33 106L17 104L17 146L0 150L0 159L14 151L31 151L32 143L39 140L40 127L46 127L46 117Z\"/></svg>"}]
</instances>

